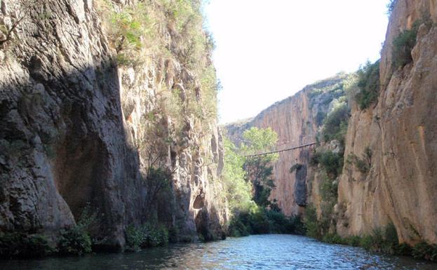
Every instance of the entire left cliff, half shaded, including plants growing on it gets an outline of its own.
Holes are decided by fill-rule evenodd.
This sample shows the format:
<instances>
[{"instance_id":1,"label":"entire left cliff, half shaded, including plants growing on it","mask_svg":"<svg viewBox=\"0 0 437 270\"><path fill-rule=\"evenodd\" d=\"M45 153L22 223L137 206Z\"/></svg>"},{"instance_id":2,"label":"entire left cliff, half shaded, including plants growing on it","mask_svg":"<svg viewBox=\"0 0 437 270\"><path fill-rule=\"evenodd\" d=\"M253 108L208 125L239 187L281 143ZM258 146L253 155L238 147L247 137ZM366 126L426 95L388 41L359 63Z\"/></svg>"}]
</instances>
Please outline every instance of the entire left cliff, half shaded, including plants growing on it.
<instances>
[{"instance_id":1,"label":"entire left cliff, half shaded, including plants growing on it","mask_svg":"<svg viewBox=\"0 0 437 270\"><path fill-rule=\"evenodd\" d=\"M199 6L1 1L0 232L55 239L89 204L107 248L154 220L180 241L222 237L222 137ZM154 194L152 168L172 173L165 194Z\"/></svg>"}]
</instances>

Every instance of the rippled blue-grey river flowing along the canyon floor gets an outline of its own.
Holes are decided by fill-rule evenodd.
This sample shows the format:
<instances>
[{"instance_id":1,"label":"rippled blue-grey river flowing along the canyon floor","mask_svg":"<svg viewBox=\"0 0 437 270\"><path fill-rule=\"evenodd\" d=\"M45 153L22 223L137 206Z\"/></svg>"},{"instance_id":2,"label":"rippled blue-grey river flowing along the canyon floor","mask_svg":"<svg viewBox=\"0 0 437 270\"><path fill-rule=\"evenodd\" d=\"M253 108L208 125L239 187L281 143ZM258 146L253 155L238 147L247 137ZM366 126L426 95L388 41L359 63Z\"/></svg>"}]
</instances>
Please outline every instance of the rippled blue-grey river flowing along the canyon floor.
<instances>
[{"instance_id":1,"label":"rippled blue-grey river flowing along the canyon floor","mask_svg":"<svg viewBox=\"0 0 437 270\"><path fill-rule=\"evenodd\" d=\"M437 264L410 257L375 255L304 236L269 234L211 243L170 245L137 253L0 261L1 270L143 269L417 269Z\"/></svg>"}]
</instances>

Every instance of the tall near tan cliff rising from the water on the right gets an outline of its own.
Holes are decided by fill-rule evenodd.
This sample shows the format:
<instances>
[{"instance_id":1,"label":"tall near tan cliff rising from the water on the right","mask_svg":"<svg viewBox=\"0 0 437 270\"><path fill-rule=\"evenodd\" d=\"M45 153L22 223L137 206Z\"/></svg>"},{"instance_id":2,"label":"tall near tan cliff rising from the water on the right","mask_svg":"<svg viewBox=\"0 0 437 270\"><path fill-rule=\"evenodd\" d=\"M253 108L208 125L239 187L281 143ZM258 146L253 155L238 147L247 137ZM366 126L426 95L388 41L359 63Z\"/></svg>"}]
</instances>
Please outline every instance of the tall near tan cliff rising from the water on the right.
<instances>
[{"instance_id":1,"label":"tall near tan cliff rising from the water on the right","mask_svg":"<svg viewBox=\"0 0 437 270\"><path fill-rule=\"evenodd\" d=\"M391 14L380 66L381 90L372 108L352 110L345 157L372 150L367 175L344 166L339 204L342 236L368 234L393 222L401 241L437 242L437 6L436 1L398 0ZM392 67L393 41L416 20L422 24L412 62Z\"/></svg>"}]
</instances>

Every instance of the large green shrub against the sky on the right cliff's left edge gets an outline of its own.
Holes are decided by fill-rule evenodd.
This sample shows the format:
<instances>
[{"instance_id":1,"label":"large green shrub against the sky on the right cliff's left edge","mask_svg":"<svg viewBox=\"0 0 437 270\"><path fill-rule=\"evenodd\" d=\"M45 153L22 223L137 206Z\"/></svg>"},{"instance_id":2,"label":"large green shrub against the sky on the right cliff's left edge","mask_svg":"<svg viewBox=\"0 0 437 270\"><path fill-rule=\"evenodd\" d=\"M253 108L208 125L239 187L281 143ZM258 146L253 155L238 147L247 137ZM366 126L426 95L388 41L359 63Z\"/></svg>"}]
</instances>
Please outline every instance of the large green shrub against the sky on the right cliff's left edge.
<instances>
[{"instance_id":1,"label":"large green shrub against the sky on the right cliff's left edge","mask_svg":"<svg viewBox=\"0 0 437 270\"><path fill-rule=\"evenodd\" d=\"M358 88L355 99L360 109L367 109L373 104L379 93L379 60L371 64L367 62L358 70Z\"/></svg>"}]
</instances>

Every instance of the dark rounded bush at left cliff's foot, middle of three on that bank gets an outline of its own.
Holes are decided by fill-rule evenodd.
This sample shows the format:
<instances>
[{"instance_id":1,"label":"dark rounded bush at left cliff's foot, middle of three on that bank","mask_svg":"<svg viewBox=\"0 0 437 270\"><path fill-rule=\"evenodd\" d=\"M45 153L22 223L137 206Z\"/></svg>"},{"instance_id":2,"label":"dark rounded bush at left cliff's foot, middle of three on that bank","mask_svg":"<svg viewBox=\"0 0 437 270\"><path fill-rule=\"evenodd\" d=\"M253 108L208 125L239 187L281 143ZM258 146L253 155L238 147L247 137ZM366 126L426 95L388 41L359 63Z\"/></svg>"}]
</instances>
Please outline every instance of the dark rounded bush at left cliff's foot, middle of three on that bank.
<instances>
[{"instance_id":1,"label":"dark rounded bush at left cliff's foot, middle of three on that bank","mask_svg":"<svg viewBox=\"0 0 437 270\"><path fill-rule=\"evenodd\" d=\"M60 255L83 255L91 252L91 238L88 231L79 225L62 229L58 250Z\"/></svg>"}]
</instances>

